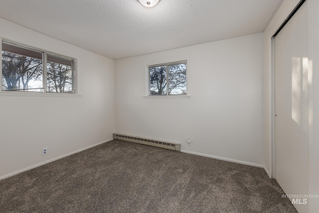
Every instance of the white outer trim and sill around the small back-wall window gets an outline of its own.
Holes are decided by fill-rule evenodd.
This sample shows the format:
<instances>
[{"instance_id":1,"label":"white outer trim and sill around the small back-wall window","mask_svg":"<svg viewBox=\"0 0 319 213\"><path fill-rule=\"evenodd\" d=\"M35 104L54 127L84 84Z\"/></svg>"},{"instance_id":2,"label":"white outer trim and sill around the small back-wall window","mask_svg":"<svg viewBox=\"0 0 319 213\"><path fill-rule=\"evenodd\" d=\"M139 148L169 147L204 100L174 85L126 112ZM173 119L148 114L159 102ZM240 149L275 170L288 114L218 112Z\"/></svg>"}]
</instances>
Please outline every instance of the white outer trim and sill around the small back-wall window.
<instances>
[{"instance_id":1,"label":"white outer trim and sill around the small back-wall window","mask_svg":"<svg viewBox=\"0 0 319 213\"><path fill-rule=\"evenodd\" d=\"M145 75L145 95L143 98L147 99L189 99L191 97L190 95L190 63L189 63L189 58L182 58L182 59L177 59L177 60L169 60L170 62L162 62L162 63L147 63L145 64L145 70L146 70L146 75ZM186 61L186 95L150 95L150 73L149 73L149 67L152 66L157 66L157 65L165 65L165 64L171 64L171 63L176 63L176 62L182 62Z\"/></svg>"}]
</instances>

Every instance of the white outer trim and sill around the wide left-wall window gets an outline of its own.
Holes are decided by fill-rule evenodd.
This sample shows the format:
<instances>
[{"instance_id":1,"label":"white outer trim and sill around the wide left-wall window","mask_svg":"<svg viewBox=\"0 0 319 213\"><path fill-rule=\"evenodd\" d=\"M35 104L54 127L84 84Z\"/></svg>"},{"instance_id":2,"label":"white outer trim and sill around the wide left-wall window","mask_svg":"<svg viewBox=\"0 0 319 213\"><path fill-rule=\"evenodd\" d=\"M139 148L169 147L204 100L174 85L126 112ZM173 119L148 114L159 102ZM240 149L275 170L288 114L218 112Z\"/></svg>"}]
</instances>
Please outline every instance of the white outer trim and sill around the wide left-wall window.
<instances>
[{"instance_id":1,"label":"white outer trim and sill around the wide left-wall window","mask_svg":"<svg viewBox=\"0 0 319 213\"><path fill-rule=\"evenodd\" d=\"M65 54L59 54L56 52L51 52L48 50L44 50L38 47L34 47L28 44L24 44L18 41L14 41L11 39L7 39L5 37L0 36L0 50L2 50L2 41L9 42L12 44L16 44L22 47L26 47L29 49L33 49L35 51L45 52L46 54L50 54L57 57L63 57L68 60L73 61L73 76L72 76L72 84L73 84L73 93L60 93L60 92L30 92L30 91L2 91L2 80L0 81L0 96L25 96L25 97L82 97L82 94L79 93L79 84L78 84L78 59L67 56ZM1 54L2 55L2 54ZM44 57L42 60L46 60ZM0 60L0 76L2 77L2 59Z\"/></svg>"}]
</instances>

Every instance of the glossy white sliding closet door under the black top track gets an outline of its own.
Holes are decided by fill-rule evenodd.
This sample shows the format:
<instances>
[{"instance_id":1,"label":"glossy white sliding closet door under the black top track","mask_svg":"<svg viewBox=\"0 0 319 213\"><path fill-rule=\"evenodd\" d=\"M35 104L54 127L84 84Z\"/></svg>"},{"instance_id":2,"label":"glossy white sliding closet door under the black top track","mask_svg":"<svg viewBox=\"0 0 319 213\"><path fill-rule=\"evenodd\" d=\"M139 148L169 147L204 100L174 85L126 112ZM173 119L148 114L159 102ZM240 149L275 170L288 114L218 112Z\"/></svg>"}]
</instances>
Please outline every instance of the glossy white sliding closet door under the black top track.
<instances>
[{"instance_id":1,"label":"glossy white sliding closet door under the black top track","mask_svg":"<svg viewBox=\"0 0 319 213\"><path fill-rule=\"evenodd\" d=\"M274 41L275 178L289 195L309 191L307 37L306 1ZM308 212L308 204L295 207Z\"/></svg>"}]
</instances>

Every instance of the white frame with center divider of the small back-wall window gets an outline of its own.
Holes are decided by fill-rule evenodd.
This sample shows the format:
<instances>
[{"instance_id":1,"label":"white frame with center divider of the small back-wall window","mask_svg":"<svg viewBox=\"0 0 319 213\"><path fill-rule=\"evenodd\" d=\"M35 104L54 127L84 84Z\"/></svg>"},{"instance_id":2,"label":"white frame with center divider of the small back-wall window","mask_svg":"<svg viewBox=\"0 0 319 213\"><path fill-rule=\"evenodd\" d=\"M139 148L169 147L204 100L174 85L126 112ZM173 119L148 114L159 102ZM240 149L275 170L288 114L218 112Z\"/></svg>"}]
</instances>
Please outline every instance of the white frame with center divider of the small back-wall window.
<instances>
[{"instance_id":1,"label":"white frame with center divider of the small back-wall window","mask_svg":"<svg viewBox=\"0 0 319 213\"><path fill-rule=\"evenodd\" d=\"M186 64L186 94L169 94L169 65L176 65L176 64ZM159 66L166 66L166 94L165 95L151 95L151 72L150 72L150 68L152 67L159 67ZM147 95L144 97L190 97L189 95L189 64L188 64L188 60L178 60L178 61L173 61L173 62L168 62L168 63L160 63L160 64L153 64L153 65L147 65Z\"/></svg>"}]
</instances>

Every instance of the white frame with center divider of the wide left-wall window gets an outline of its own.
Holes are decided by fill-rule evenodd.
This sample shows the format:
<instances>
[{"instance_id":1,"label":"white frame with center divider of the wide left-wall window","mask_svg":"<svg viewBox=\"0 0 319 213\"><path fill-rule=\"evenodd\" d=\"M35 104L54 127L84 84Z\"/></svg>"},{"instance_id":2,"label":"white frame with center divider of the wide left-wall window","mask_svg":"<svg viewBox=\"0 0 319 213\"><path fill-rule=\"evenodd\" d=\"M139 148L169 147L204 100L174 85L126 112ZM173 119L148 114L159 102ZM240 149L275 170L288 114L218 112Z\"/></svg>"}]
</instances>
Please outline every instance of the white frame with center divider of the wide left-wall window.
<instances>
[{"instance_id":1,"label":"white frame with center divider of the wide left-wall window","mask_svg":"<svg viewBox=\"0 0 319 213\"><path fill-rule=\"evenodd\" d=\"M39 91L22 91L22 90L2 90L2 42L3 43L7 43L9 45L12 46L17 46L20 48L24 48L24 49L28 49L31 51L35 51L35 52L39 52L42 54L42 87L43 87L43 91L39 92ZM7 95L7 94L32 94L32 95L36 95L36 94L50 94L50 95L64 95L64 96L74 96L74 95L79 95L78 93L78 79L77 79L77 59L73 58L73 57L69 57L66 55L62 55L59 53L55 53L55 52L51 52L51 51L47 51L41 48L37 48L34 46L30 46L27 44L23 44L20 42L16 42L10 39L6 39L3 37L0 37L0 50L1 50L1 60L0 60L0 76L1 76L1 81L0 81L0 94L1 95ZM53 56L53 57L58 57L61 59L65 59L65 60L69 60L71 61L71 69L72 69L72 90L71 92L50 92L47 91L47 55ZM28 95L26 95L28 96Z\"/></svg>"}]
</instances>

